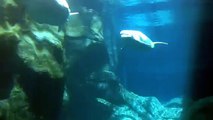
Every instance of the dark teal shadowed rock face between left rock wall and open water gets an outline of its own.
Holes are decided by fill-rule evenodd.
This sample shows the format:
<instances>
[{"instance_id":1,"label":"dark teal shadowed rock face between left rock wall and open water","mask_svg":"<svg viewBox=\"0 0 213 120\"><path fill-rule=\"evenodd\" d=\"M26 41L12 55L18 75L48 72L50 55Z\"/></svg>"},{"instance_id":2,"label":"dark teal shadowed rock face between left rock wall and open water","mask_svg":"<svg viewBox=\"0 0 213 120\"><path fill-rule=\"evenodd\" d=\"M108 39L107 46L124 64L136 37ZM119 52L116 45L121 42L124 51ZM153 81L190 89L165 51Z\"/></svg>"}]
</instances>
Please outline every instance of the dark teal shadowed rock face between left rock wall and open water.
<instances>
[{"instance_id":1,"label":"dark teal shadowed rock face between left rock wall and open water","mask_svg":"<svg viewBox=\"0 0 213 120\"><path fill-rule=\"evenodd\" d=\"M67 47L65 49L69 50L69 45ZM121 98L117 98L119 96L117 81L103 72L103 67L108 63L106 47L103 43L91 44L78 56L79 59L66 71L66 85L71 100L64 109L65 115L62 119L109 119L112 109L97 102L96 98L104 98L113 103L119 103L117 100Z\"/></svg>"}]
</instances>

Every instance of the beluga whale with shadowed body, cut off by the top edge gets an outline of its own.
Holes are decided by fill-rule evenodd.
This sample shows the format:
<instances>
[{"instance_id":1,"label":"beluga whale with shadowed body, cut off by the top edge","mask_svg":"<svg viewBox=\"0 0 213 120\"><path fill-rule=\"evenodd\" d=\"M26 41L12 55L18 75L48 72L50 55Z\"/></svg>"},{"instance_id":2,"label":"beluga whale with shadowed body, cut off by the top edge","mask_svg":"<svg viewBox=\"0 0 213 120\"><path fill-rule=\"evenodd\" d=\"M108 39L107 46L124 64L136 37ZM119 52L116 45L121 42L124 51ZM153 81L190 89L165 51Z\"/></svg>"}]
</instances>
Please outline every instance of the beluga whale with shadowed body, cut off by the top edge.
<instances>
[{"instance_id":1,"label":"beluga whale with shadowed body, cut off by the top edge","mask_svg":"<svg viewBox=\"0 0 213 120\"><path fill-rule=\"evenodd\" d=\"M42 24L62 26L69 16L79 14L71 12L66 0L22 0L26 13Z\"/></svg>"}]
</instances>

